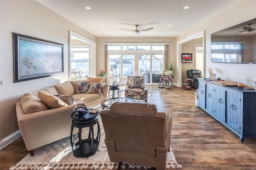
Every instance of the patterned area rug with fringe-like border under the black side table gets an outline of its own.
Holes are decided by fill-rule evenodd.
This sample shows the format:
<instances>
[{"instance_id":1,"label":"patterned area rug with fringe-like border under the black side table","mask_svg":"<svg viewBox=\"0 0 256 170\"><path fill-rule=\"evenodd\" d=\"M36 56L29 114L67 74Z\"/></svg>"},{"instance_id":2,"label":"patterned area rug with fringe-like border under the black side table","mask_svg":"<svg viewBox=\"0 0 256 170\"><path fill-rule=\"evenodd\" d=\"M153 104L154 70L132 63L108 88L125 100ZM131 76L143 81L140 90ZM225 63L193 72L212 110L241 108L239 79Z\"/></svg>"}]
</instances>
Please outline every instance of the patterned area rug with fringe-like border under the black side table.
<instances>
[{"instance_id":1,"label":"patterned area rug with fringe-like border under the black side table","mask_svg":"<svg viewBox=\"0 0 256 170\"><path fill-rule=\"evenodd\" d=\"M76 158L70 147L70 137L63 138L45 146L35 149L34 156L28 154L10 170L68 170L68 169L116 169L118 163L110 162L108 151L104 143L105 132L102 121L100 123L100 144L96 153L88 158ZM88 135L88 130L82 131L82 136ZM75 142L78 141L77 134L74 134ZM121 168L147 169L150 167L138 164L129 164L123 162ZM172 148L168 152L166 168L182 168L176 162Z\"/></svg>"}]
</instances>

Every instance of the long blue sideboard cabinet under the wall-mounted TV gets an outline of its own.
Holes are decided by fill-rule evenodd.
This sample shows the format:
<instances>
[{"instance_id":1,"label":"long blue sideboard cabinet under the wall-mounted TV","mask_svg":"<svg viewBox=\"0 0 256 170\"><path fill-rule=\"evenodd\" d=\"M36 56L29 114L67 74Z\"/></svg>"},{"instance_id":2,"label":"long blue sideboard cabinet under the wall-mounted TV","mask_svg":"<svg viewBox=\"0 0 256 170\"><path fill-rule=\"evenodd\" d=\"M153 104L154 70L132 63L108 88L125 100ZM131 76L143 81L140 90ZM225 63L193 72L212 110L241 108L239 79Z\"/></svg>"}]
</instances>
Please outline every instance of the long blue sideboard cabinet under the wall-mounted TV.
<instances>
[{"instance_id":1,"label":"long blue sideboard cabinet under the wall-mounted TV","mask_svg":"<svg viewBox=\"0 0 256 170\"><path fill-rule=\"evenodd\" d=\"M256 138L256 91L198 79L198 108L240 137Z\"/></svg>"}]
</instances>

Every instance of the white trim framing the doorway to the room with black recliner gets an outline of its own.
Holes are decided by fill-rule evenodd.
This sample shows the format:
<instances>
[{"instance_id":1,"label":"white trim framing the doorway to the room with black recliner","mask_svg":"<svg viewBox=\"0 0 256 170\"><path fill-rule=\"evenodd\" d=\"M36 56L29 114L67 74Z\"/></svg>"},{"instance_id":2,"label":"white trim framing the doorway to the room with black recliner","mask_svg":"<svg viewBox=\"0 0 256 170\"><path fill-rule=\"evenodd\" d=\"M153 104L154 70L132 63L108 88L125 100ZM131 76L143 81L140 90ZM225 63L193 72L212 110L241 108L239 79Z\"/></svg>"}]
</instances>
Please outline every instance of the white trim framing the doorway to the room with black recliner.
<instances>
[{"instance_id":1,"label":"white trim framing the doorway to the room with black recliner","mask_svg":"<svg viewBox=\"0 0 256 170\"><path fill-rule=\"evenodd\" d=\"M188 38L185 38L184 40L181 40L179 42L177 42L177 68L176 68L176 86L177 87L181 87L181 45L183 43L186 43L186 42L189 42L189 41L192 41L192 40L196 40L198 38L203 38L203 63L204 63L204 37L205 37L205 31L201 31L201 32L198 32L197 34L194 34L193 36L190 36ZM205 65L205 63L204 63ZM203 70L202 70L202 76L204 77L204 65L203 65Z\"/></svg>"}]
</instances>

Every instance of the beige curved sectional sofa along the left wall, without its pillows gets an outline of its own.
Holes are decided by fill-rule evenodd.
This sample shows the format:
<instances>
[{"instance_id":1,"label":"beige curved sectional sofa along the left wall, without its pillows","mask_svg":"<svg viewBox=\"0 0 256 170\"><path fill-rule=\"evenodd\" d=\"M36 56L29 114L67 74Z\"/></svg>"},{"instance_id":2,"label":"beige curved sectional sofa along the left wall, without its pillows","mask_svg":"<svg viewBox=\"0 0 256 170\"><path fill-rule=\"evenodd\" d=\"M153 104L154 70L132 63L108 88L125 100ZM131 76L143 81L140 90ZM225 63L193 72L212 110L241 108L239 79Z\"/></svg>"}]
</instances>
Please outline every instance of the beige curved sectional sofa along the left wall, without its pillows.
<instances>
[{"instance_id":1,"label":"beige curved sectional sofa along the left wall, without its pillows","mask_svg":"<svg viewBox=\"0 0 256 170\"><path fill-rule=\"evenodd\" d=\"M94 78L95 79L95 78ZM54 95L71 96L76 103L85 102L88 108L93 108L106 99L108 85L102 83L100 94L90 93L85 91L77 93L77 84L81 81L65 81L64 83L26 93L21 98L21 101L16 103L16 114L20 132L26 144L30 155L34 155L34 149L44 146L56 140L60 140L70 136L70 128L72 119L71 113L75 105L67 105L64 101ZM97 82L98 83L98 82ZM92 84L92 82L90 82ZM46 105L39 98L39 94L44 94L50 97L50 101ZM58 99L56 99L58 98ZM48 99L48 98L47 98ZM65 103L64 106L58 108L49 108L54 103ZM73 103L74 104L74 103Z\"/></svg>"}]
</instances>

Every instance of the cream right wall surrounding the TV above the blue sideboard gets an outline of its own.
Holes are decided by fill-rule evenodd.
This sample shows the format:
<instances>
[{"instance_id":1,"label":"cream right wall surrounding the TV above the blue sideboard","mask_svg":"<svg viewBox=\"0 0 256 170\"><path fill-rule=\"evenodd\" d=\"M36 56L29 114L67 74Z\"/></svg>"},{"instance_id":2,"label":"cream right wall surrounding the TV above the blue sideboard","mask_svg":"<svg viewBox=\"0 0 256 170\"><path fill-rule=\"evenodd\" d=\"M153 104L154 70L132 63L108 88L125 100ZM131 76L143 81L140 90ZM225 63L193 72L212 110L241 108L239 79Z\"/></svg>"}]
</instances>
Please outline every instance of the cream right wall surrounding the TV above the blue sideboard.
<instances>
[{"instance_id":1,"label":"cream right wall surrounding the TV above the blue sideboard","mask_svg":"<svg viewBox=\"0 0 256 170\"><path fill-rule=\"evenodd\" d=\"M244 83L247 77L256 80L256 64L242 63L211 63L211 34L230 26L256 18L256 1L237 1L228 8L208 20L190 28L186 33L176 38L176 42L184 40L202 30L205 30L205 75L208 76L207 67L212 67L216 77L221 79Z\"/></svg>"}]
</instances>

